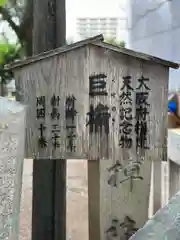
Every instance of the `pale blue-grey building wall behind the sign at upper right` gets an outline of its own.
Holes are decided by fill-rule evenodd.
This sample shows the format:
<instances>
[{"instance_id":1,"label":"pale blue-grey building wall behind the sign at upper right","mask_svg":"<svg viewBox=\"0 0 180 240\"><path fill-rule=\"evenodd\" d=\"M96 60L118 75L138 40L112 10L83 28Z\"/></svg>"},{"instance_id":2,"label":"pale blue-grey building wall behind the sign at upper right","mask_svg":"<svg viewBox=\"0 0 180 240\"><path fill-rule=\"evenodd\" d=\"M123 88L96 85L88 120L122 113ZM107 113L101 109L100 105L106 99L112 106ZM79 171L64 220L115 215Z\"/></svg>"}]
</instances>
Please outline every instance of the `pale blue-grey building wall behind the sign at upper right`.
<instances>
[{"instance_id":1,"label":"pale blue-grey building wall behind the sign at upper right","mask_svg":"<svg viewBox=\"0 0 180 240\"><path fill-rule=\"evenodd\" d=\"M128 47L180 62L180 0L127 0ZM180 89L180 70L170 70L169 89Z\"/></svg>"}]
</instances>

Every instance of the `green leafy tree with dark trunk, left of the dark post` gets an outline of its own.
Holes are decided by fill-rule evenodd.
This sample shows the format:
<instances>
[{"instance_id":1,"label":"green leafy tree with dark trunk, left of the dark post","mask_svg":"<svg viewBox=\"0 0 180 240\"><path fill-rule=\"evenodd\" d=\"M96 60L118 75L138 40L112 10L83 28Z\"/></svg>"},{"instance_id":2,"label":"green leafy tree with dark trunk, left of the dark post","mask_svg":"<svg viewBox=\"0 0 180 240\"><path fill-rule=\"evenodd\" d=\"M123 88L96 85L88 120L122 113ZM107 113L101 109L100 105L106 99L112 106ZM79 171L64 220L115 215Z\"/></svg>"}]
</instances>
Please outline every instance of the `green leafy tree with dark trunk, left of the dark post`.
<instances>
[{"instance_id":1,"label":"green leafy tree with dark trunk, left of the dark post","mask_svg":"<svg viewBox=\"0 0 180 240\"><path fill-rule=\"evenodd\" d=\"M0 41L0 95L7 94L6 85L12 80L11 71L5 65L19 59L21 55L32 55L32 11L33 0L0 0L0 24L6 22L17 37L17 44L6 39Z\"/></svg>"}]
</instances>

